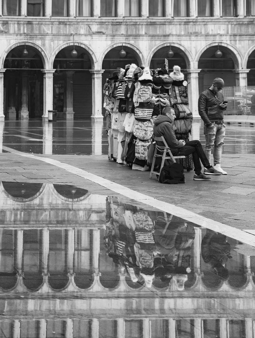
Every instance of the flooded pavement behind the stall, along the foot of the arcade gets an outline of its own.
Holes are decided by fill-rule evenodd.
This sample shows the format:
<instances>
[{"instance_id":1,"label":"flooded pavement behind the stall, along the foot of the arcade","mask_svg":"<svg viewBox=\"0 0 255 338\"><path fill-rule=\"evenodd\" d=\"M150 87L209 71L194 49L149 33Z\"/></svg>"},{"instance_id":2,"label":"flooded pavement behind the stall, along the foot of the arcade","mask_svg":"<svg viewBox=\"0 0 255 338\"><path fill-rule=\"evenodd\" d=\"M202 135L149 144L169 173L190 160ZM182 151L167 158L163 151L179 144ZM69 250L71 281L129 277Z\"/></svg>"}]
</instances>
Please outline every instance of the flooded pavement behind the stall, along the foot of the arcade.
<instances>
[{"instance_id":1,"label":"flooded pavement behind the stall, along the foot of the arcade","mask_svg":"<svg viewBox=\"0 0 255 338\"><path fill-rule=\"evenodd\" d=\"M255 153L254 125L227 124L223 154ZM200 121L193 122L190 140L205 144ZM5 121L0 124L2 146L34 154L107 154L105 122L65 121L43 123L42 120Z\"/></svg>"}]
</instances>

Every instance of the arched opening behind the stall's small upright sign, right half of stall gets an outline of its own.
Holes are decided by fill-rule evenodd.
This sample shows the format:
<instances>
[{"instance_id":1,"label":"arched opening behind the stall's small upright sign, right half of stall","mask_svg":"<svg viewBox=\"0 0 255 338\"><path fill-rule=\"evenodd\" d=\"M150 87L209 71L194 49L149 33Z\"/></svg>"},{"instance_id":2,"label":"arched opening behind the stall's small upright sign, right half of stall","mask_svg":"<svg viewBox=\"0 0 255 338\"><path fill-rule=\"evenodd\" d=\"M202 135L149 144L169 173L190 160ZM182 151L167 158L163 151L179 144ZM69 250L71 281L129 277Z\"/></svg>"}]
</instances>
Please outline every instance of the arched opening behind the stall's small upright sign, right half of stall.
<instances>
[{"instance_id":1,"label":"arched opening behind the stall's small upright sign, right half of stall","mask_svg":"<svg viewBox=\"0 0 255 338\"><path fill-rule=\"evenodd\" d=\"M171 52L170 52L171 50ZM168 68L170 72L175 65L181 68L184 75L187 73L187 64L185 61L185 53L176 46L164 46L158 49L152 56L150 68L164 68L165 59L168 60Z\"/></svg>"}]
</instances>

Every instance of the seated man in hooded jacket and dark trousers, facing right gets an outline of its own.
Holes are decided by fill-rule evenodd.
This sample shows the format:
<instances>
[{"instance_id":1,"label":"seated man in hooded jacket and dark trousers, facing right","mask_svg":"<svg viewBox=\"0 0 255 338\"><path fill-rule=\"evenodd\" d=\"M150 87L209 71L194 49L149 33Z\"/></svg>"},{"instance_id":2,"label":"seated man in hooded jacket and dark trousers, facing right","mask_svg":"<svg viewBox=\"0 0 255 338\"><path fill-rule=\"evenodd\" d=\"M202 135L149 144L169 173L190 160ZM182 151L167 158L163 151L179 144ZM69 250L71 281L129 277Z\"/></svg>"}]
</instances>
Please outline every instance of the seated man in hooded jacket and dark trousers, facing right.
<instances>
[{"instance_id":1,"label":"seated man in hooded jacket and dark trousers, facing right","mask_svg":"<svg viewBox=\"0 0 255 338\"><path fill-rule=\"evenodd\" d=\"M195 167L195 175L193 177L194 180L211 180L210 177L206 175L221 175L220 171L215 170L209 163L206 154L202 148L200 141L193 140L184 142L183 140L178 141L175 137L175 132L173 129L172 122L175 119L175 111L173 108L165 107L162 111L162 115L159 115L154 120L154 135L156 137L163 136L165 141L167 142L170 150L172 151L173 156L187 156L192 154L194 167ZM163 146L163 144L162 144ZM201 172L201 163L205 167L204 174Z\"/></svg>"}]
</instances>

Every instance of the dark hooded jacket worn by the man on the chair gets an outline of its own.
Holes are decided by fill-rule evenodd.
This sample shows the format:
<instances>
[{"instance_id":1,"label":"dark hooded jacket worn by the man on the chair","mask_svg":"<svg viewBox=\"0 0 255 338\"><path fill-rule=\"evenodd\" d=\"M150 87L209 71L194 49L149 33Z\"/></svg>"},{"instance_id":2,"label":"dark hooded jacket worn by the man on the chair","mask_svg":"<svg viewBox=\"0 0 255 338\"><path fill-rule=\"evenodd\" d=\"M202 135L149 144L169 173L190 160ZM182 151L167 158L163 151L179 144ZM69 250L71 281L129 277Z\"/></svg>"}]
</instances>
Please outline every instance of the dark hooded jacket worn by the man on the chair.
<instances>
[{"instance_id":1,"label":"dark hooded jacket worn by the man on the chair","mask_svg":"<svg viewBox=\"0 0 255 338\"><path fill-rule=\"evenodd\" d=\"M182 148L184 146L183 142L176 139L173 121L168 116L159 115L155 119L153 132L156 137L163 136L171 150L176 150L176 148ZM163 143L162 146L164 146Z\"/></svg>"}]
</instances>

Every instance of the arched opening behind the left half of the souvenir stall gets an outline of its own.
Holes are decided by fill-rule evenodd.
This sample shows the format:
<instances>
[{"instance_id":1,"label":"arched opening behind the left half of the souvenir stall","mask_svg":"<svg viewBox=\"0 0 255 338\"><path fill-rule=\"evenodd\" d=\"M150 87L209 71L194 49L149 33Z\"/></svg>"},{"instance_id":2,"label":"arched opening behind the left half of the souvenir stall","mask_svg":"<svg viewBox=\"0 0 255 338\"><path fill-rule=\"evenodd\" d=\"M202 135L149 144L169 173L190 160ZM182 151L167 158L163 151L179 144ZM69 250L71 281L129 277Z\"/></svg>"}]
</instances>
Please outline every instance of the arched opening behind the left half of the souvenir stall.
<instances>
[{"instance_id":1,"label":"arched opening behind the left half of the souvenir stall","mask_svg":"<svg viewBox=\"0 0 255 338\"><path fill-rule=\"evenodd\" d=\"M120 53L122 50L124 50L126 54L123 52ZM122 45L109 50L105 54L102 64L102 69L104 69L102 74L102 89L106 79L112 75L112 72L119 70L120 68L125 69L126 65L131 65L132 63L136 64L137 66L143 66L139 63L136 53L132 48ZM104 97L102 100L104 100ZM103 108L103 114L105 114L105 108Z\"/></svg>"}]
</instances>

